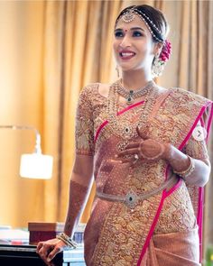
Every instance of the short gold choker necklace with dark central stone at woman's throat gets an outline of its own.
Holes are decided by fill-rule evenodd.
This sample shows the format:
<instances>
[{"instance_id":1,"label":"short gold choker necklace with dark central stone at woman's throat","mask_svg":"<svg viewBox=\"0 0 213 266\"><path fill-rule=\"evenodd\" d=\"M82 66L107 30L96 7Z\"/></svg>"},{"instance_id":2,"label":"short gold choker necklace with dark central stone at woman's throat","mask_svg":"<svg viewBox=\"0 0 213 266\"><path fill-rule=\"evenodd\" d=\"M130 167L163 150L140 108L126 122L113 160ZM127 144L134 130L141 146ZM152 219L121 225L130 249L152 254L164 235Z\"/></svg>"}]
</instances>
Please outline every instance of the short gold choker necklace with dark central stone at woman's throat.
<instances>
[{"instance_id":1,"label":"short gold choker necklace with dark central stone at woman's throat","mask_svg":"<svg viewBox=\"0 0 213 266\"><path fill-rule=\"evenodd\" d=\"M149 91L149 88L153 87L153 85L154 85L153 80L150 80L144 87L138 88L137 90L133 90L133 89L127 89L123 87L121 85L121 80L120 80L117 86L117 93L120 96L125 97L127 105L132 105L134 104L135 98L138 98L138 97L141 97L147 94L147 92Z\"/></svg>"}]
</instances>

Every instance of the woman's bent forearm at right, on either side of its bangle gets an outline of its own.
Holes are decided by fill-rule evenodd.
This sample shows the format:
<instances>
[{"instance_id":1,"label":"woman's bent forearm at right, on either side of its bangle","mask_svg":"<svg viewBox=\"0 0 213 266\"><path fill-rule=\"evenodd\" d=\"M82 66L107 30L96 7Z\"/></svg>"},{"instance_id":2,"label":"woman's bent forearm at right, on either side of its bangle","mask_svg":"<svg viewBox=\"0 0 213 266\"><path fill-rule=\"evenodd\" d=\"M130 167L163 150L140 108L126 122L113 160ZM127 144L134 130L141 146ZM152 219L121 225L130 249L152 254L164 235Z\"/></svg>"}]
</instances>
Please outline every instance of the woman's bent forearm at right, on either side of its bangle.
<instances>
[{"instance_id":1,"label":"woman's bent forearm at right, on either side of its bangle","mask_svg":"<svg viewBox=\"0 0 213 266\"><path fill-rule=\"evenodd\" d=\"M164 159L170 163L171 169L177 172L187 170L190 166L189 157L171 144L165 145ZM194 163L194 170L185 180L188 184L203 187L208 182L210 174L209 161L201 161L193 158L192 160Z\"/></svg>"}]
</instances>

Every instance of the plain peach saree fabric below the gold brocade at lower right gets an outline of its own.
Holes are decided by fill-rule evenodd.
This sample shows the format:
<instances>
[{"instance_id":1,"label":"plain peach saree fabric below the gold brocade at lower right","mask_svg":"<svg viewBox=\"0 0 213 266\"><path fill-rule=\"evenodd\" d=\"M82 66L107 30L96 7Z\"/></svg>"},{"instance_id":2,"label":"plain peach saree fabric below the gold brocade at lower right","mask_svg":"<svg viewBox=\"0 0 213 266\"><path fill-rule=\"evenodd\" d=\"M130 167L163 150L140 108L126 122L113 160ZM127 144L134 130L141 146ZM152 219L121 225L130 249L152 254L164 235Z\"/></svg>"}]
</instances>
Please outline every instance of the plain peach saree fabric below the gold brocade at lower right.
<instances>
[{"instance_id":1,"label":"plain peach saree fabric below the gold brocade at lower right","mask_svg":"<svg viewBox=\"0 0 213 266\"><path fill-rule=\"evenodd\" d=\"M154 234L140 266L200 266L198 228Z\"/></svg>"}]
</instances>

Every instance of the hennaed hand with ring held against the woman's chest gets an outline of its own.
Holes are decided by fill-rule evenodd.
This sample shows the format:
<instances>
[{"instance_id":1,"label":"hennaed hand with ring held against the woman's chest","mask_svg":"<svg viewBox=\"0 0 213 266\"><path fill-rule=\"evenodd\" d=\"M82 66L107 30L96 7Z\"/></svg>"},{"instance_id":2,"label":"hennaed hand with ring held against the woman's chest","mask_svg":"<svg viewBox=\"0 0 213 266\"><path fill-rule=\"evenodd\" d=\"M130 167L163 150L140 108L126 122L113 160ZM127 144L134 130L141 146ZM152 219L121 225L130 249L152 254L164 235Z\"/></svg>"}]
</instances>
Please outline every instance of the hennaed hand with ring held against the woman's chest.
<instances>
[{"instance_id":1,"label":"hennaed hand with ring held against the woman's chest","mask_svg":"<svg viewBox=\"0 0 213 266\"><path fill-rule=\"evenodd\" d=\"M139 159L143 161L158 161L165 159L167 144L147 138L137 127L138 140L128 144L125 151L118 153L117 157L123 163L134 165Z\"/></svg>"}]
</instances>

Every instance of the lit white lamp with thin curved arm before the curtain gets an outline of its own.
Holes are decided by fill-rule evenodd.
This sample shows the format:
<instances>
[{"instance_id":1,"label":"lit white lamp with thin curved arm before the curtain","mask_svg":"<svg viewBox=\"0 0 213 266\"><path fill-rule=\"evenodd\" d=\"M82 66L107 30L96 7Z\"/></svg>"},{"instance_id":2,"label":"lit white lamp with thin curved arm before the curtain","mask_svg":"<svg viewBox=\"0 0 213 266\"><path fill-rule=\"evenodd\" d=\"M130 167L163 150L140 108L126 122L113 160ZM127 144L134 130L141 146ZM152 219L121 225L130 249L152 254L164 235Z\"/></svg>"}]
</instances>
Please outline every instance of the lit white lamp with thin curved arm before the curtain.
<instances>
[{"instance_id":1,"label":"lit white lamp with thin curved arm before the curtain","mask_svg":"<svg viewBox=\"0 0 213 266\"><path fill-rule=\"evenodd\" d=\"M42 154L41 135L32 126L0 125L0 129L32 130L35 133L35 148L33 153L22 154L20 176L28 179L51 179L53 157Z\"/></svg>"}]
</instances>

